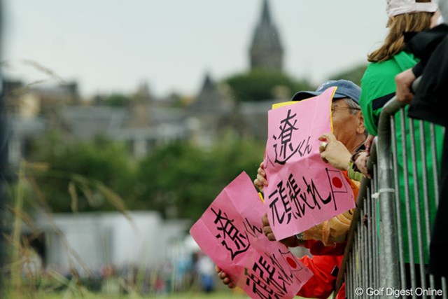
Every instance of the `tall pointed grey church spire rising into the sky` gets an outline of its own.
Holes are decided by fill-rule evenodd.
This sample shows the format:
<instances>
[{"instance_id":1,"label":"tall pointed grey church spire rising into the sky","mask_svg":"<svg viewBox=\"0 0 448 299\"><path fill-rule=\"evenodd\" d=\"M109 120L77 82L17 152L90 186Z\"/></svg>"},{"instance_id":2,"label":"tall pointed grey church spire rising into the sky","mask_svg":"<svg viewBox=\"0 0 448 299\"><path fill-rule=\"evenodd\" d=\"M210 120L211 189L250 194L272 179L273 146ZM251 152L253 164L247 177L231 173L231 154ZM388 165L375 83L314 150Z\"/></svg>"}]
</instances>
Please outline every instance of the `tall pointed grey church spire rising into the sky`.
<instances>
[{"instance_id":1,"label":"tall pointed grey church spire rising into the sky","mask_svg":"<svg viewBox=\"0 0 448 299\"><path fill-rule=\"evenodd\" d=\"M279 32L272 22L268 0L263 0L260 20L253 33L249 55L251 70L283 70L283 47Z\"/></svg>"}]
</instances>

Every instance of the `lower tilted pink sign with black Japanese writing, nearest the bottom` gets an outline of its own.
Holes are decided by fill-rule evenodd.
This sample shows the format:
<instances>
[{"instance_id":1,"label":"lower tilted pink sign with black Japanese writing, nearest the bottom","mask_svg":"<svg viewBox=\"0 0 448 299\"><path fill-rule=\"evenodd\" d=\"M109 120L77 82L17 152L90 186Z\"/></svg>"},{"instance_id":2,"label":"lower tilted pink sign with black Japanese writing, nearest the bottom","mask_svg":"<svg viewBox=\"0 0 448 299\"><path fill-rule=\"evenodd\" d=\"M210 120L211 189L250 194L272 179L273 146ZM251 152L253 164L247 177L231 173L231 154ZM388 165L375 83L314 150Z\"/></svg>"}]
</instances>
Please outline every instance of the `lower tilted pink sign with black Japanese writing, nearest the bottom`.
<instances>
[{"instance_id":1,"label":"lower tilted pink sign with black Japanese writing, nearest the bottom","mask_svg":"<svg viewBox=\"0 0 448 299\"><path fill-rule=\"evenodd\" d=\"M311 271L262 232L265 207L243 172L211 203L190 234L251 298L293 298Z\"/></svg>"}]
</instances>

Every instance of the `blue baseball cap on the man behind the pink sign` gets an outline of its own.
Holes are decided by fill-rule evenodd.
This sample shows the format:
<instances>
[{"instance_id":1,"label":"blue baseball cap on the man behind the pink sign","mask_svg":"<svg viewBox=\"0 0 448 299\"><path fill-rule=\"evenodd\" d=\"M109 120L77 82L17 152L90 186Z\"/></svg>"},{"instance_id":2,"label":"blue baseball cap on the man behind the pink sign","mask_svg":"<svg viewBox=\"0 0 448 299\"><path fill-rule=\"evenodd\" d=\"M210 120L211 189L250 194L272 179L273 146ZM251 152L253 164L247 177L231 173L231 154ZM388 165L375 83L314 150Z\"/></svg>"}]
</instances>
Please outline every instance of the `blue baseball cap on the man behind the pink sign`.
<instances>
[{"instance_id":1,"label":"blue baseball cap on the man behind the pink sign","mask_svg":"<svg viewBox=\"0 0 448 299\"><path fill-rule=\"evenodd\" d=\"M330 80L325 81L319 86L316 91L300 91L297 92L293 96L293 101L302 101L302 99L308 99L309 97L316 97L316 95L321 95L327 88L331 88L333 86L337 87L335 95L333 99L342 99L344 97L348 97L349 99L353 99L356 104L359 105L359 95L361 93L361 89L355 83L348 80Z\"/></svg>"}]
</instances>

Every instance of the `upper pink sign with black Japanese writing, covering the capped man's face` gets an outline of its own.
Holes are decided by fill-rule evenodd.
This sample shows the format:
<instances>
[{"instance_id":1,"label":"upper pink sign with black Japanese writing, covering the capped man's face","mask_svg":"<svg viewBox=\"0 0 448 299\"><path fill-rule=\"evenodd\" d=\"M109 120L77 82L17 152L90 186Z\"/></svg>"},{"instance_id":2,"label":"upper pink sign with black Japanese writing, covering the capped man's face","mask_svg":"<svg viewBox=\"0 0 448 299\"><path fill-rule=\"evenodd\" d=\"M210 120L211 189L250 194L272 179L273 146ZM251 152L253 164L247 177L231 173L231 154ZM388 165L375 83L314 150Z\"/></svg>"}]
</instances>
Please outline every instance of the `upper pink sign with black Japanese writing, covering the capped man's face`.
<instances>
[{"instance_id":1,"label":"upper pink sign with black Japanese writing, covering the capped man's face","mask_svg":"<svg viewBox=\"0 0 448 299\"><path fill-rule=\"evenodd\" d=\"M342 172L323 162L318 137L332 132L336 88L268 114L265 205L277 239L290 237L355 207Z\"/></svg>"}]
</instances>

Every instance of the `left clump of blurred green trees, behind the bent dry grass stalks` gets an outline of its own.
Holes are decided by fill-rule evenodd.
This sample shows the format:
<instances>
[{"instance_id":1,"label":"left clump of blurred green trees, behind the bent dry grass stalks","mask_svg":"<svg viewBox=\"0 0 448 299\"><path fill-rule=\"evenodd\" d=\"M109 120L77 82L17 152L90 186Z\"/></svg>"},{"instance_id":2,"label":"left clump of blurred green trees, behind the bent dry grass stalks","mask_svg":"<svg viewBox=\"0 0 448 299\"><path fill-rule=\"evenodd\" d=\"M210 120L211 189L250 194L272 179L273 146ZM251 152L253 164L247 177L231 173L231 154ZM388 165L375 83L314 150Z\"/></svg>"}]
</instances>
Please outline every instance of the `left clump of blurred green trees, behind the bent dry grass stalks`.
<instances>
[{"instance_id":1,"label":"left clump of blurred green trees, behind the bent dry grass stalks","mask_svg":"<svg viewBox=\"0 0 448 299\"><path fill-rule=\"evenodd\" d=\"M28 196L40 196L53 212L116 210L123 206L120 197L132 196L133 165L123 144L104 137L67 140L52 131L30 152L31 167L25 172L35 184Z\"/></svg>"}]
</instances>

